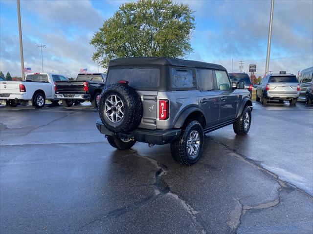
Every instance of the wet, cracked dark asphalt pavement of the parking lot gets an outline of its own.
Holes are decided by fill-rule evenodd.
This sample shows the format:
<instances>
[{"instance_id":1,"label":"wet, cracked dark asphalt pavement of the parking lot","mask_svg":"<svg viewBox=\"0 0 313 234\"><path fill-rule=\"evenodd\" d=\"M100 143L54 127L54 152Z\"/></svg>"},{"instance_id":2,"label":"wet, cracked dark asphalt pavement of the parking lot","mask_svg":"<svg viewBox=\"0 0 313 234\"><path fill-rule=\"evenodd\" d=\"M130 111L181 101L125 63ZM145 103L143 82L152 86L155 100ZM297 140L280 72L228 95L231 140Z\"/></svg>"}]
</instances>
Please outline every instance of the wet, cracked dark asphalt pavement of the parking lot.
<instances>
[{"instance_id":1,"label":"wet, cracked dark asphalt pavement of the parking lot","mask_svg":"<svg viewBox=\"0 0 313 234\"><path fill-rule=\"evenodd\" d=\"M250 132L113 149L91 106L0 108L0 233L313 233L313 106L254 103Z\"/></svg>"}]
</instances>

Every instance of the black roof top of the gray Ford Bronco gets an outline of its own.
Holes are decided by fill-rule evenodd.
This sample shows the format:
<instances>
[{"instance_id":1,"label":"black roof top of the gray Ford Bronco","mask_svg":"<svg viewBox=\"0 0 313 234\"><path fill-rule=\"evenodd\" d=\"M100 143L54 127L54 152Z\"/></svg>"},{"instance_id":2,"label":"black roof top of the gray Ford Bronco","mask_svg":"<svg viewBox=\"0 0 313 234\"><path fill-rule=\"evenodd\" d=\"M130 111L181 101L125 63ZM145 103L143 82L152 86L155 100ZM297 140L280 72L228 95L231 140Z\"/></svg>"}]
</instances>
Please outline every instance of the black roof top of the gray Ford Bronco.
<instances>
[{"instance_id":1,"label":"black roof top of the gray Ford Bronco","mask_svg":"<svg viewBox=\"0 0 313 234\"><path fill-rule=\"evenodd\" d=\"M198 67L226 71L226 69L223 66L214 63L184 59L170 59L164 57L122 58L122 59L113 59L109 63L109 67L135 66L135 65L172 65L179 67Z\"/></svg>"}]
</instances>

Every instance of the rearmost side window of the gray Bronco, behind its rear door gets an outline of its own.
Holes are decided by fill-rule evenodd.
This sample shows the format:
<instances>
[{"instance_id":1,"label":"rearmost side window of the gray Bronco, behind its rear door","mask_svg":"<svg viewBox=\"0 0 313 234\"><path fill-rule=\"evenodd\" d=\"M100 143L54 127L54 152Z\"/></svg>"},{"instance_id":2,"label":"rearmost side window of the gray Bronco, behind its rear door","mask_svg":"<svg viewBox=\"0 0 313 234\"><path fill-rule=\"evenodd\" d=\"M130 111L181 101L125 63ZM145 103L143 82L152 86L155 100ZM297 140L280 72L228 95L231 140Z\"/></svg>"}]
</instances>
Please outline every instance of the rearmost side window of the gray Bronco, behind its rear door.
<instances>
[{"instance_id":1,"label":"rearmost side window of the gray Bronco, behind its rear door","mask_svg":"<svg viewBox=\"0 0 313 234\"><path fill-rule=\"evenodd\" d=\"M192 76L192 70L170 68L172 88L190 89L196 87L196 82Z\"/></svg>"}]
</instances>

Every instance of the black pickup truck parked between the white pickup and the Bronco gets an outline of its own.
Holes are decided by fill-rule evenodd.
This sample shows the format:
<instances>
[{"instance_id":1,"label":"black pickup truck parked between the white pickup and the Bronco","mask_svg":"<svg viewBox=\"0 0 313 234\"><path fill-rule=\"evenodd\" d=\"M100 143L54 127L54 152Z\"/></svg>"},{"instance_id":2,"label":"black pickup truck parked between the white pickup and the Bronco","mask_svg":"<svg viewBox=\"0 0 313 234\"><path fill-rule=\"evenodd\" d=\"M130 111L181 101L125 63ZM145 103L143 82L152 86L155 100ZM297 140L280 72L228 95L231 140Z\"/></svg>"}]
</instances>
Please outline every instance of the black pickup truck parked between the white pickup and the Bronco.
<instances>
[{"instance_id":1,"label":"black pickup truck parked between the white pickup and the Bronco","mask_svg":"<svg viewBox=\"0 0 313 234\"><path fill-rule=\"evenodd\" d=\"M76 80L55 82L55 97L62 100L64 106L72 106L74 103L90 101L97 108L99 98L106 82L106 74L80 73Z\"/></svg>"}]
</instances>

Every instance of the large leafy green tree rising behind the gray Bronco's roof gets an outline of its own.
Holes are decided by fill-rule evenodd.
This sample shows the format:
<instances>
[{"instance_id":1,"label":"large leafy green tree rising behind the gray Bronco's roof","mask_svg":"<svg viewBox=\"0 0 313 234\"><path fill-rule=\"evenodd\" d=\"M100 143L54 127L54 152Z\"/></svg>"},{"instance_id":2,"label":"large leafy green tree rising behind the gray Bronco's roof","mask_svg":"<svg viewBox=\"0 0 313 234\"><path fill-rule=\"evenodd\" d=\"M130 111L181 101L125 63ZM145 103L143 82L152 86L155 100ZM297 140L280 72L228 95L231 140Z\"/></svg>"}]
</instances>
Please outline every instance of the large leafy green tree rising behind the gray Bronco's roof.
<instances>
[{"instance_id":1,"label":"large leafy green tree rising behind the gray Bronco's roof","mask_svg":"<svg viewBox=\"0 0 313 234\"><path fill-rule=\"evenodd\" d=\"M96 49L92 60L105 67L123 57L182 58L192 52L193 13L187 4L171 0L121 4L90 40Z\"/></svg>"}]
</instances>

